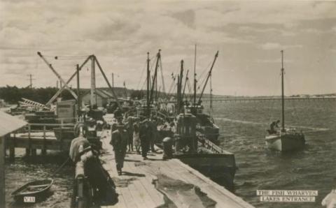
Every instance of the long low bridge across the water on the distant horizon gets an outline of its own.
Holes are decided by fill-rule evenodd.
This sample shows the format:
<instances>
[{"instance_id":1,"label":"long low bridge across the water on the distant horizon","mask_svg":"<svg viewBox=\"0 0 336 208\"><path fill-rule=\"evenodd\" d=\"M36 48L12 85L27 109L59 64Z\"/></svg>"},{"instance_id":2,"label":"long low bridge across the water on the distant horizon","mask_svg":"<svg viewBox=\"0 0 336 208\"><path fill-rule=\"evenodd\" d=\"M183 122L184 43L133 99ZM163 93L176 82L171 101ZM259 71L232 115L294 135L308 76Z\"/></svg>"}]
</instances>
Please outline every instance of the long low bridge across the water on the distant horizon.
<instances>
[{"instance_id":1,"label":"long low bridge across the water on the distant horizon","mask_svg":"<svg viewBox=\"0 0 336 208\"><path fill-rule=\"evenodd\" d=\"M281 97L267 98L247 98L247 97L229 97L229 98L213 98L212 102L252 102L252 101L280 101ZM336 97L285 97L285 101L336 101ZM209 103L210 99L203 99L203 103Z\"/></svg>"}]
</instances>

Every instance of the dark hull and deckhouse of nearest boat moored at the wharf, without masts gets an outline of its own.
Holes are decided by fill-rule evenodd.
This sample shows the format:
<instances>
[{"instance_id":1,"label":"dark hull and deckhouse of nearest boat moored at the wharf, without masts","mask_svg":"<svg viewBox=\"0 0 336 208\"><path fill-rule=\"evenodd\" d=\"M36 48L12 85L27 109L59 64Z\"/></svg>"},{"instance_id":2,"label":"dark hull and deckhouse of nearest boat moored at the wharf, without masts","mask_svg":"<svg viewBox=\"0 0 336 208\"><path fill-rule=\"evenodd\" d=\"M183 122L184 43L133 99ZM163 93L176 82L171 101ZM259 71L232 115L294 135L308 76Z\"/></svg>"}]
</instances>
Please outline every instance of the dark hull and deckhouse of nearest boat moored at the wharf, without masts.
<instances>
[{"instance_id":1,"label":"dark hull and deckhouse of nearest boat moored at the wharf, without masts","mask_svg":"<svg viewBox=\"0 0 336 208\"><path fill-rule=\"evenodd\" d=\"M174 133L174 158L179 158L183 163L232 191L237 170L235 154L225 151L204 135L197 133L196 126L195 115L179 114Z\"/></svg>"}]
</instances>

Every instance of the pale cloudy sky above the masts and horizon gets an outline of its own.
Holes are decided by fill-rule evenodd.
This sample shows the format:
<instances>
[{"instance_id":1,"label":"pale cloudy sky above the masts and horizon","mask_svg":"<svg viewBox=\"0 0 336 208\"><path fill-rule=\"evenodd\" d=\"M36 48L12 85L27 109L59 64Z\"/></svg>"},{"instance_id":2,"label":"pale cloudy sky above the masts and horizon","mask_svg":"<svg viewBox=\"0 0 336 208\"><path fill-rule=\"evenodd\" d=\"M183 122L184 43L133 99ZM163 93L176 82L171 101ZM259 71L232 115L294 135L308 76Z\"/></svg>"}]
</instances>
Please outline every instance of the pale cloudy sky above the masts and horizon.
<instances>
[{"instance_id":1,"label":"pale cloudy sky above the masts and horizon","mask_svg":"<svg viewBox=\"0 0 336 208\"><path fill-rule=\"evenodd\" d=\"M219 51L214 94L279 95L281 50L286 95L336 92L336 1L0 2L0 87L27 87L29 74L33 87L55 87L41 52L64 80L94 54L115 86L145 89L147 52L153 73L160 49L169 91L182 59L192 77L196 44L199 85ZM107 87L99 71L96 82ZM90 63L80 86L90 87Z\"/></svg>"}]
</instances>

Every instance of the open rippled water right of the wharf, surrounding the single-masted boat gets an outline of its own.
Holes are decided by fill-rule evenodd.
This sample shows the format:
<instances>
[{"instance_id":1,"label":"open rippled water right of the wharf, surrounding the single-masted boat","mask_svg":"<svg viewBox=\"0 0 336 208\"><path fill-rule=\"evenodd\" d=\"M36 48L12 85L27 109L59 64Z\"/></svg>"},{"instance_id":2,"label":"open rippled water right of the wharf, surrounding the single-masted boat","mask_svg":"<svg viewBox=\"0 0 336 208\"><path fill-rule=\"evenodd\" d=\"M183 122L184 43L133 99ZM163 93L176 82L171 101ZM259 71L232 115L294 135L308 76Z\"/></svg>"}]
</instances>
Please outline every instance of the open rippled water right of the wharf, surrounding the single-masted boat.
<instances>
[{"instance_id":1,"label":"open rippled water right of the wharf, surrounding the single-masted boat","mask_svg":"<svg viewBox=\"0 0 336 208\"><path fill-rule=\"evenodd\" d=\"M280 153L265 147L266 129L281 119L280 101L214 103L221 146L235 153L239 168L235 194L255 207L321 207L336 172L336 102L286 101L286 127L304 132L302 151ZM317 190L316 202L259 202L257 189Z\"/></svg>"}]
</instances>

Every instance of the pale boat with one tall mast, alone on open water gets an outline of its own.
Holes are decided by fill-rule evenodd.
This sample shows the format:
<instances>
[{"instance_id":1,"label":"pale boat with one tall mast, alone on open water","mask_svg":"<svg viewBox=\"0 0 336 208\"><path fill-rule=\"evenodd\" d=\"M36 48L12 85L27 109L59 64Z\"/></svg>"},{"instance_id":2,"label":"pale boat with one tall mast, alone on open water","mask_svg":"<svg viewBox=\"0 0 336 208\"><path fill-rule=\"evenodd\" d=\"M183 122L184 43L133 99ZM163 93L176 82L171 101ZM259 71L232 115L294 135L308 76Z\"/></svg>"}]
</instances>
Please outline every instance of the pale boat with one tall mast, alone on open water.
<instances>
[{"instance_id":1,"label":"pale boat with one tall mast, alone on open water","mask_svg":"<svg viewBox=\"0 0 336 208\"><path fill-rule=\"evenodd\" d=\"M285 128L285 98L283 92L283 73L283 50L281 50L281 129L275 132L269 131L269 135L266 135L265 137L265 142L269 149L275 149L278 151L292 151L296 149L302 149L306 141L302 132L298 132L295 128Z\"/></svg>"}]
</instances>

